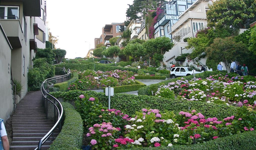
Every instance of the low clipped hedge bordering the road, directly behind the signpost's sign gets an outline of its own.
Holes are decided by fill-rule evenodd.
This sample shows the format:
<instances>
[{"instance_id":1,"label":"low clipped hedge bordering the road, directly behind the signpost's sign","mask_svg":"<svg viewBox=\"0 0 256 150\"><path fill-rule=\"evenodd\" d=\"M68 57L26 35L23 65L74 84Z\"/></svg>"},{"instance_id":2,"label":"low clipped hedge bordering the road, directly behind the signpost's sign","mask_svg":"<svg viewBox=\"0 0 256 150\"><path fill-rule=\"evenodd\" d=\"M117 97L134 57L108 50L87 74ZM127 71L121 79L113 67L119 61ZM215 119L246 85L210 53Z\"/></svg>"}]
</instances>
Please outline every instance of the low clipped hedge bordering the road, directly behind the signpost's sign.
<instances>
[{"instance_id":1,"label":"low clipped hedge bordering the road, directly behind the signpost's sign","mask_svg":"<svg viewBox=\"0 0 256 150\"><path fill-rule=\"evenodd\" d=\"M122 93L122 92L130 92L130 91L137 91L138 89L146 86L146 84L136 81L137 84L133 85L122 85L122 86L114 86L114 93ZM105 92L105 88L103 89Z\"/></svg>"}]
</instances>

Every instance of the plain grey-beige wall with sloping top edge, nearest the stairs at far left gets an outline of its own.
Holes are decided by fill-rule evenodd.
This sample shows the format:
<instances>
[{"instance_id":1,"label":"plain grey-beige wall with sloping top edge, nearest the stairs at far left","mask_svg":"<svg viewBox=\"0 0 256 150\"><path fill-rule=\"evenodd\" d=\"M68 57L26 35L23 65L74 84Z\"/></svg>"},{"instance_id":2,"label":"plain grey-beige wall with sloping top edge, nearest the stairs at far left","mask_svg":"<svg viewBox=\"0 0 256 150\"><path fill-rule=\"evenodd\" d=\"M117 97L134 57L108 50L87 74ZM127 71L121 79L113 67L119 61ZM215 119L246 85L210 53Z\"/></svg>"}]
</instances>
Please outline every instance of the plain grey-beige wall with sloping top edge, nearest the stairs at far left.
<instances>
[{"instance_id":1,"label":"plain grey-beige wall with sloping top edge, nearest the stairs at far left","mask_svg":"<svg viewBox=\"0 0 256 150\"><path fill-rule=\"evenodd\" d=\"M0 118L6 122L14 108L10 71L12 47L2 29L1 23L0 28Z\"/></svg>"}]
</instances>

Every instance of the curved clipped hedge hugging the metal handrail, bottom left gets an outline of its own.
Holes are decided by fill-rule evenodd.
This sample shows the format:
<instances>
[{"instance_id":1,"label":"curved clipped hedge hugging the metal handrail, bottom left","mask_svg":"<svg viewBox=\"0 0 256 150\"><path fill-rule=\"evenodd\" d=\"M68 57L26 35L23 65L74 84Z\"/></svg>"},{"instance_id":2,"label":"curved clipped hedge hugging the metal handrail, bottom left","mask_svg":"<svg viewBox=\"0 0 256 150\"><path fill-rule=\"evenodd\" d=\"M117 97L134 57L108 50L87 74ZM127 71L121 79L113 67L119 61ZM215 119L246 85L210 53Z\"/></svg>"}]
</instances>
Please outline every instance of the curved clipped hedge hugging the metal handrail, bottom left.
<instances>
[{"instance_id":1,"label":"curved clipped hedge hugging the metal handrail, bottom left","mask_svg":"<svg viewBox=\"0 0 256 150\"><path fill-rule=\"evenodd\" d=\"M60 134L49 149L81 149L83 141L82 118L71 104L62 102L61 105L64 111L64 124Z\"/></svg>"}]
</instances>

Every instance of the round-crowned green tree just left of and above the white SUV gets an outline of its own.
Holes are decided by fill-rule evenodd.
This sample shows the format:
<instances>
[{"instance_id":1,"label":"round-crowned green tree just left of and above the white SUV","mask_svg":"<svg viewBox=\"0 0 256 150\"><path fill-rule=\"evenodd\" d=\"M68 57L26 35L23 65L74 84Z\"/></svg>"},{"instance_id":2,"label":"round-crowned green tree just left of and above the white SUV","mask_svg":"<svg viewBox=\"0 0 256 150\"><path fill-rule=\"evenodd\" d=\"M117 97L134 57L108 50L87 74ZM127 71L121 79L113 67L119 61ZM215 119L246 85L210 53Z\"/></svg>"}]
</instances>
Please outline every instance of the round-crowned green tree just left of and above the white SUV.
<instances>
[{"instance_id":1,"label":"round-crowned green tree just left of and above the white SUV","mask_svg":"<svg viewBox=\"0 0 256 150\"><path fill-rule=\"evenodd\" d=\"M153 59L160 61L161 66L164 65L164 54L173 48L172 40L162 36L155 39L147 40L143 43L143 47L147 53L154 53Z\"/></svg>"}]
</instances>

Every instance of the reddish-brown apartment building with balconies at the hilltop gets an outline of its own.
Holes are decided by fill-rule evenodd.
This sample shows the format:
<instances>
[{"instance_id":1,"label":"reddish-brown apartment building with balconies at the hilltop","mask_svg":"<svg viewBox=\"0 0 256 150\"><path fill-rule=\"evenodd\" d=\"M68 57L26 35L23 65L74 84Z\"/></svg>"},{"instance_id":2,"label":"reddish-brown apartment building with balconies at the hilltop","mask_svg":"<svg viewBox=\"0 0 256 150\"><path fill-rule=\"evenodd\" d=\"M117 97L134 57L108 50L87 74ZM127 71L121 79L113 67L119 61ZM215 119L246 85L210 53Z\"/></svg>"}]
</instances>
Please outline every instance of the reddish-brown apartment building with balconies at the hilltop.
<instances>
[{"instance_id":1,"label":"reddish-brown apartment building with balconies at the hilltop","mask_svg":"<svg viewBox=\"0 0 256 150\"><path fill-rule=\"evenodd\" d=\"M96 45L99 43L102 43L105 46L111 46L109 39L112 37L121 37L122 32L125 30L126 26L124 23L105 24L105 26L102 28L100 38L94 39L94 48L96 48Z\"/></svg>"}]
</instances>

